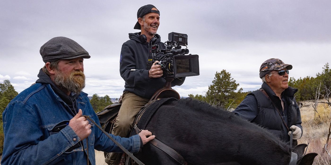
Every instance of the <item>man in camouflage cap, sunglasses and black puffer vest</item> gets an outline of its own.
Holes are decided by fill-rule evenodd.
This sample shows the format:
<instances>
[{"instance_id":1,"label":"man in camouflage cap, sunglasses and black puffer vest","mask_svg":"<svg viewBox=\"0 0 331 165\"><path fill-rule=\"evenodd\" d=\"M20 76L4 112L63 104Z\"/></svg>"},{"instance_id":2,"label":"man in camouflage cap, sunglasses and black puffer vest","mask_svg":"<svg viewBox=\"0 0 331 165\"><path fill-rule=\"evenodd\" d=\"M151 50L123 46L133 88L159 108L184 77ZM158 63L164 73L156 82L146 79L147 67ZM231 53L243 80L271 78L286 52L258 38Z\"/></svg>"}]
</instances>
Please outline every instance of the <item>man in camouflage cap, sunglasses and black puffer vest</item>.
<instances>
[{"instance_id":1,"label":"man in camouflage cap, sunglasses and black puffer vest","mask_svg":"<svg viewBox=\"0 0 331 165\"><path fill-rule=\"evenodd\" d=\"M249 93L232 112L266 128L285 142L290 142L293 131L293 146L302 136L301 115L294 94L298 89L288 86L292 65L271 58L260 67L262 87Z\"/></svg>"}]
</instances>

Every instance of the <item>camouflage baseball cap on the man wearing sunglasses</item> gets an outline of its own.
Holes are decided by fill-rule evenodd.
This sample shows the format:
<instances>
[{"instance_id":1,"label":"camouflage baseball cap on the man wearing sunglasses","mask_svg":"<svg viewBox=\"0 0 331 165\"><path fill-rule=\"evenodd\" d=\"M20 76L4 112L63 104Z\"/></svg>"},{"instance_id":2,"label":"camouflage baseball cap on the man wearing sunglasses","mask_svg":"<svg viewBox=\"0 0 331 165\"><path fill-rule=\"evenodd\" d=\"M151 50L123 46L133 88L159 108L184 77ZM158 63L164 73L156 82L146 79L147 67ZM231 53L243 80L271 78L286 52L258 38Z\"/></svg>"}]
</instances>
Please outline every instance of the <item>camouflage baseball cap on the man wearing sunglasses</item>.
<instances>
[{"instance_id":1,"label":"camouflage baseball cap on the man wearing sunglasses","mask_svg":"<svg viewBox=\"0 0 331 165\"><path fill-rule=\"evenodd\" d=\"M278 58L270 58L266 61L264 61L260 67L260 79L264 77L265 75L269 74L272 70L282 70L282 69L292 69L292 65L285 64L282 60Z\"/></svg>"}]
</instances>

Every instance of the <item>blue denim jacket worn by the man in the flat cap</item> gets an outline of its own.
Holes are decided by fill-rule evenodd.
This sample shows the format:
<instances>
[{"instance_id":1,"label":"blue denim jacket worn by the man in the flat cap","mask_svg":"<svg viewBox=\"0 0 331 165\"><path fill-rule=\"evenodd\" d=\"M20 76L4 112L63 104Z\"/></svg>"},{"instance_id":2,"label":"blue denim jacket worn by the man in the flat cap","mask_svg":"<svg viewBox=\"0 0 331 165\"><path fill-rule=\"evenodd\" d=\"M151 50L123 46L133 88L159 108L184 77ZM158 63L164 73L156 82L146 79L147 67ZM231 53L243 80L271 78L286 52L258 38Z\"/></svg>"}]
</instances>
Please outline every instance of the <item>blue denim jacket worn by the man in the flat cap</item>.
<instances>
[{"instance_id":1,"label":"blue denim jacket worn by the man in the flat cap","mask_svg":"<svg viewBox=\"0 0 331 165\"><path fill-rule=\"evenodd\" d=\"M81 109L83 115L100 125L86 93L81 92L76 102L77 110ZM67 125L75 114L48 83L36 83L22 91L2 115L5 136L2 165L87 164L87 152L93 165L94 149L123 152L92 122L92 133L86 138L88 141L79 142L78 136ZM131 153L139 151L139 135L130 138L110 135Z\"/></svg>"}]
</instances>

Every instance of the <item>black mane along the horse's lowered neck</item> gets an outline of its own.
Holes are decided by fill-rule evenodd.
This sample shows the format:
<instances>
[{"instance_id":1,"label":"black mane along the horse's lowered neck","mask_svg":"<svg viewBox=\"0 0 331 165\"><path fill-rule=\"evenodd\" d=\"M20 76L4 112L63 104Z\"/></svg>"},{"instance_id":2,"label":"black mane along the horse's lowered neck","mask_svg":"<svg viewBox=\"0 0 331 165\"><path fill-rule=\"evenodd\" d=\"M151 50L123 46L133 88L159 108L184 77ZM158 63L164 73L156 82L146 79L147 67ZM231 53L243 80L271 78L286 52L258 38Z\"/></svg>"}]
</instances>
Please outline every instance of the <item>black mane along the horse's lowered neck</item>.
<instances>
[{"instance_id":1,"label":"black mane along the horse's lowered neck","mask_svg":"<svg viewBox=\"0 0 331 165\"><path fill-rule=\"evenodd\" d=\"M236 116L229 111L212 106L207 102L199 101L197 99L192 99L189 97L185 99L180 99L177 102L173 102L173 104L178 107L190 107L190 110L201 113L202 117L205 116L209 120L220 120L224 121L225 124L233 125L233 127L243 127L248 131L254 131L257 136L263 137L270 144L272 144L270 145L270 147L274 147L276 149L277 146L279 146L281 150L288 154L290 154L292 151L292 147L289 147L287 143L275 137L275 135L267 131L267 129L262 128L255 123L251 123L248 120L243 119L239 116Z\"/></svg>"}]
</instances>

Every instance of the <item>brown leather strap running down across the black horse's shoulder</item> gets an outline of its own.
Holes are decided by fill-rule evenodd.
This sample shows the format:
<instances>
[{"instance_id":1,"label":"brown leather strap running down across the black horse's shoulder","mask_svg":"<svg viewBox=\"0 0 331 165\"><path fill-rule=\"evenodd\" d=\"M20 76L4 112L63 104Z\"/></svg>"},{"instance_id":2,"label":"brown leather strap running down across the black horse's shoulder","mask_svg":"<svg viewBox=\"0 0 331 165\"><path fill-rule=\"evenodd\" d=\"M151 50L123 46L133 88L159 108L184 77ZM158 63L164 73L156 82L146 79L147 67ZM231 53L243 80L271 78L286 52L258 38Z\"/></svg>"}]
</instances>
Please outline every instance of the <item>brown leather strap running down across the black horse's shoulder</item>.
<instances>
[{"instance_id":1,"label":"brown leather strap running down across the black horse's shoulder","mask_svg":"<svg viewBox=\"0 0 331 165\"><path fill-rule=\"evenodd\" d=\"M133 128L135 129L135 131L136 131L137 134L139 134L139 132L141 131L137 127L137 125L134 125ZM185 159L183 158L182 155L180 155L174 149L172 149L169 146L165 145L161 141L157 140L156 138L154 138L153 140L149 141L149 143L151 143L155 147L161 149L162 151L166 152L166 154L168 154L170 157L172 157L173 159L175 159L178 163L180 163L182 165L187 165L187 162L185 161Z\"/></svg>"}]
</instances>

